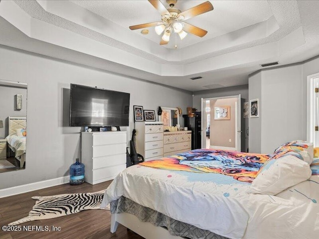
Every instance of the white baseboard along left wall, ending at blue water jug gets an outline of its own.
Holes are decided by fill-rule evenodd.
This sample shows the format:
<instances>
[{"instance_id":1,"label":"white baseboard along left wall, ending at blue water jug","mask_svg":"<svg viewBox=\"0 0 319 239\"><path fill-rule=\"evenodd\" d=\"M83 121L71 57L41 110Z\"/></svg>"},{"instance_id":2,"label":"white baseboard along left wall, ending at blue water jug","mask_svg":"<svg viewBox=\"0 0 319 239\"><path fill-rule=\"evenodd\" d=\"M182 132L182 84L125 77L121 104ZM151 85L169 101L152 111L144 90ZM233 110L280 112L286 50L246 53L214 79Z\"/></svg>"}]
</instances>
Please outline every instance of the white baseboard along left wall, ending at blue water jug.
<instances>
[{"instance_id":1,"label":"white baseboard along left wall, ending at blue water jug","mask_svg":"<svg viewBox=\"0 0 319 239\"><path fill-rule=\"evenodd\" d=\"M45 181L19 185L11 188L4 188L0 190L0 198L68 183L69 179L69 176L64 176L60 178L53 178Z\"/></svg>"}]
</instances>

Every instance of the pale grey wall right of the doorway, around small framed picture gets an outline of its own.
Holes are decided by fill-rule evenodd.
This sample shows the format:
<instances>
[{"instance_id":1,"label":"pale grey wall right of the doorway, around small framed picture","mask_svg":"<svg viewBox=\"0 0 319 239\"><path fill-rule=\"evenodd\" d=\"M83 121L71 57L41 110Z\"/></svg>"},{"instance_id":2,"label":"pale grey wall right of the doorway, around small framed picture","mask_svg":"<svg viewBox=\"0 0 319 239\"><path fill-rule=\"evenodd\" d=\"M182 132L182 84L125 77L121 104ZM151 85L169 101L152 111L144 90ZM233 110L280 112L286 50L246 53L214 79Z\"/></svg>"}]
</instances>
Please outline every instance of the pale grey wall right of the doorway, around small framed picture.
<instances>
[{"instance_id":1,"label":"pale grey wall right of the doorway, around small framed picture","mask_svg":"<svg viewBox=\"0 0 319 239\"><path fill-rule=\"evenodd\" d=\"M299 64L260 72L261 124L254 125L253 119L249 120L249 145L255 146L253 152L273 153L285 142L307 140L307 76L316 73L319 73L318 56ZM251 89L254 77L255 74L249 77L250 100L254 99L251 92L256 91ZM256 141L258 138L260 140Z\"/></svg>"}]
</instances>

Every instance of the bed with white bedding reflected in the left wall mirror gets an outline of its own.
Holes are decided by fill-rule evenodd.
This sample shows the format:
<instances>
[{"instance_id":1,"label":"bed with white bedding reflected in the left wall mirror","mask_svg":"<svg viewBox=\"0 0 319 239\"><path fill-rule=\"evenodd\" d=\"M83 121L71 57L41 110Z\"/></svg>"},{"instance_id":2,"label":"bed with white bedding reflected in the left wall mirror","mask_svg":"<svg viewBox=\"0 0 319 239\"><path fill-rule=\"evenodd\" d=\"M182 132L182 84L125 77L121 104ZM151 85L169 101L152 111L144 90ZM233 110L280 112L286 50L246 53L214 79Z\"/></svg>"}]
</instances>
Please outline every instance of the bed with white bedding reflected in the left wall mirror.
<instances>
[{"instance_id":1,"label":"bed with white bedding reflected in the left wall mirror","mask_svg":"<svg viewBox=\"0 0 319 239\"><path fill-rule=\"evenodd\" d=\"M14 157L20 161L20 168L25 162L26 117L9 117L9 130L6 141ZM17 132L20 132L19 134Z\"/></svg>"}]
</instances>

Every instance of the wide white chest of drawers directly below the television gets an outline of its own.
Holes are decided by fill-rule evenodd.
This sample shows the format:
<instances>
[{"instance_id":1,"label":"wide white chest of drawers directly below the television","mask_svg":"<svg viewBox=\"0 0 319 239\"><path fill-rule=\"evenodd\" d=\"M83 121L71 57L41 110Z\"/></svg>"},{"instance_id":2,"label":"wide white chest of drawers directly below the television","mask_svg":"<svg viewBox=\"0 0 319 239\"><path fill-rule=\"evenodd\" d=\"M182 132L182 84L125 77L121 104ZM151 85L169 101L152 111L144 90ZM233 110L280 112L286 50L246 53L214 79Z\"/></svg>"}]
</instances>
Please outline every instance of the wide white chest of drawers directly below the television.
<instances>
[{"instance_id":1,"label":"wide white chest of drawers directly below the television","mask_svg":"<svg viewBox=\"0 0 319 239\"><path fill-rule=\"evenodd\" d=\"M126 168L126 131L82 132L85 181L97 184L114 179Z\"/></svg>"}]
</instances>

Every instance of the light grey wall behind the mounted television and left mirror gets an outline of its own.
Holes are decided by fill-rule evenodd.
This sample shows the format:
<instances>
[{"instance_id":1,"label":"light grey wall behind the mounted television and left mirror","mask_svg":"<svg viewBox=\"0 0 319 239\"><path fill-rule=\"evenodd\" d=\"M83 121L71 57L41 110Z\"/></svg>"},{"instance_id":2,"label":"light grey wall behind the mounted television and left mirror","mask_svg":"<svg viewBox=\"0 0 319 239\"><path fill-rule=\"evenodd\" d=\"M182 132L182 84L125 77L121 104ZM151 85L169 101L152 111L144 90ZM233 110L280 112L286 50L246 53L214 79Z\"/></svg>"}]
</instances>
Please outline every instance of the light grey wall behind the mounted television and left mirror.
<instances>
[{"instance_id":1,"label":"light grey wall behind the mounted television and left mirror","mask_svg":"<svg viewBox=\"0 0 319 239\"><path fill-rule=\"evenodd\" d=\"M180 107L183 112L192 106L189 92L9 47L0 47L0 56L0 79L28 84L26 169L0 173L0 189L67 176L69 166L80 157L81 127L64 126L70 83L131 93L129 135L133 105L146 110Z\"/></svg>"}]
</instances>

